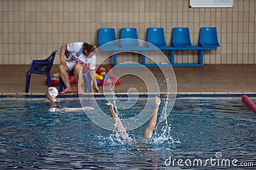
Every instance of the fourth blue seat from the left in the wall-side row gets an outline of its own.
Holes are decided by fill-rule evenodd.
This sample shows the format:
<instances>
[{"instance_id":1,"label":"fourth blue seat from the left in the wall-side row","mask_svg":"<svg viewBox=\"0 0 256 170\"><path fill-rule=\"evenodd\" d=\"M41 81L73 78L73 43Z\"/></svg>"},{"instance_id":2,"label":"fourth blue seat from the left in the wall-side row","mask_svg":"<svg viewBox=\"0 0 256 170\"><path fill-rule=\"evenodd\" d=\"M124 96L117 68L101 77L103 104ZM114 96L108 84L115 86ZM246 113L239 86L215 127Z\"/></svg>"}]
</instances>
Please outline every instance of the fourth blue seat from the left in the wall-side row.
<instances>
[{"instance_id":1,"label":"fourth blue seat from the left in the wall-side row","mask_svg":"<svg viewBox=\"0 0 256 170\"><path fill-rule=\"evenodd\" d=\"M174 27L172 32L173 47L190 47L191 40L188 27Z\"/></svg>"}]
</instances>

